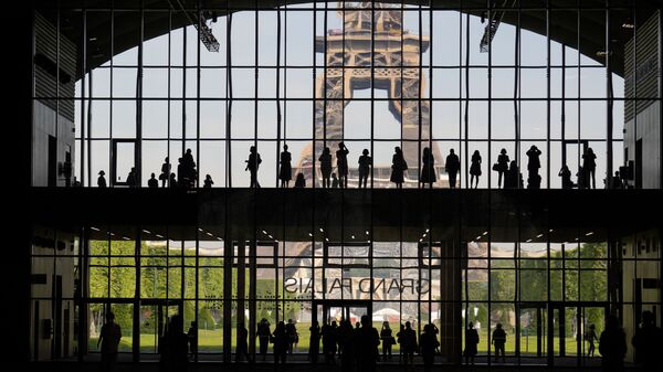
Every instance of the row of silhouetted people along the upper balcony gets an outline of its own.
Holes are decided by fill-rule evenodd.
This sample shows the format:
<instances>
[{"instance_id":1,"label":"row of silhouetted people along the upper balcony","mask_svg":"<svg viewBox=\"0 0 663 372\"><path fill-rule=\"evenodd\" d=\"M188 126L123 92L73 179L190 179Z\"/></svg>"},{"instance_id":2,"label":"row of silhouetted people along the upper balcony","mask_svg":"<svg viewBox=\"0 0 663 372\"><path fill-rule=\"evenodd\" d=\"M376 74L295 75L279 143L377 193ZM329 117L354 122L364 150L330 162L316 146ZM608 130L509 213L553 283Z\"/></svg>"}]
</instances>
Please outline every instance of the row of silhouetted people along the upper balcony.
<instances>
[{"instance_id":1,"label":"row of silhouetted people along the upper balcony","mask_svg":"<svg viewBox=\"0 0 663 372\"><path fill-rule=\"evenodd\" d=\"M288 188L290 181L293 177L293 168L292 168L292 153L287 150L287 145L283 146L283 151L280 156L280 167L278 167L278 180L281 188ZM244 162L246 163L245 171L249 171L251 174L250 188L260 188L260 183L257 181L257 172L260 169L260 164L262 163L262 159L255 146L251 146L249 150L249 159ZM322 187L323 188L340 188L345 189L348 187L348 153L349 150L344 142L338 144L338 150L336 150L336 172L333 172L332 164L332 150L328 147L325 147L318 157L319 169L322 173ZM358 160L358 171L359 171L359 188L366 189L368 185L368 178L370 174L370 168L372 167L372 157L369 155L368 149L364 149L361 151L361 156ZM540 189L541 187L541 177L539 174L539 169L541 168L540 155L541 151L536 147L532 146L527 152L527 189ZM571 180L571 171L564 164L559 170L558 176L561 178L561 188L562 189L596 189L596 162L597 156L591 148L587 148L585 153L582 155L582 166L579 167L577 176L577 182ZM193 161L193 156L191 155L191 149L187 149L185 155L178 159L177 167L177 177L176 173L171 171L171 164L169 158L167 157L161 164L161 173L158 177L158 180L155 173L151 173L150 179L147 184L149 188L158 188L159 180L161 181L161 188L183 188L191 189L197 184L198 171L196 170L196 162ZM430 148L425 147L422 150L421 158L421 171L419 177L419 183L422 188L427 185L429 188L433 188L433 183L436 181L435 174L435 159ZM400 147L394 148L394 153L391 158L391 177L390 181L396 184L397 189L401 189L404 182L404 172L408 170L408 162L403 156L403 151ZM457 174L461 170L461 160L459 156L455 153L454 149L449 151L444 162L444 171L449 176L449 187L451 189L456 188ZM497 172L497 188L502 189L523 189L525 187L525 182L523 180L523 173L519 170L519 167L516 160L509 160L509 157L506 152L506 149L502 149L499 155L497 156L497 161L493 164L493 171ZM105 172L99 171L99 177L97 179L97 185L99 188L106 188L107 182L105 179ZM475 150L472 153L471 166L470 166L470 188L476 189L478 188L478 180L482 176L482 156L478 150ZM138 177L136 174L136 169L131 168L129 174L126 178L126 182L130 188L138 188L140 183L138 181ZM212 177L210 174L206 174L203 181L203 188L211 188L214 184ZM295 179L295 188L305 188L306 187L306 178L304 173L298 172ZM611 189L623 189L624 184L619 174L619 171L614 173L614 177L611 180L610 184Z\"/></svg>"}]
</instances>

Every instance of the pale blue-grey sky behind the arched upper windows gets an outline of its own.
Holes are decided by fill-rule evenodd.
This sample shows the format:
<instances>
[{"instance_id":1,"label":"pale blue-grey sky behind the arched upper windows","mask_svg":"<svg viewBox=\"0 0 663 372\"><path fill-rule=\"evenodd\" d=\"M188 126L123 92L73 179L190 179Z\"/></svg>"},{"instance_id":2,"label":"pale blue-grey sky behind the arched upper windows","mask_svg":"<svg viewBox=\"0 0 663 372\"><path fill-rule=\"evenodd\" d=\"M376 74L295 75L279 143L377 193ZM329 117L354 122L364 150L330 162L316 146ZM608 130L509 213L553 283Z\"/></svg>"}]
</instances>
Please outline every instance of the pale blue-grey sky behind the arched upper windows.
<instances>
[{"instance_id":1,"label":"pale blue-grey sky behind the arched upper windows","mask_svg":"<svg viewBox=\"0 0 663 372\"><path fill-rule=\"evenodd\" d=\"M299 6L309 7L309 6ZM293 7L297 8L297 7ZM231 49L232 49L232 83L233 97L235 98L275 98L276 94L276 71L274 68L260 68L257 94L254 88L255 71L255 12L244 11L233 15ZM275 11L261 11L257 14L257 60L259 64L265 66L276 66L276 17ZM282 12L282 50L281 66L312 66L313 42L315 35L324 34L324 11L316 12L316 26L314 34L314 12L313 11L292 11ZM455 11L436 11L432 20L432 43L431 47L423 53L424 64L423 73L427 81L424 97L445 98L449 100L439 100L432 104L433 137L439 140L439 146L443 155L450 148L459 152L459 139L464 138L461 131L463 124L464 109L464 71L457 68L464 65L465 54L465 15ZM197 96L197 68L198 53L200 53L200 97L204 100L198 103L193 99L186 104L186 138L196 139L197 120L200 119L200 163L199 170L201 179L209 173L214 179L214 187L228 185L224 179L225 173L225 18L219 18L218 22L209 23L212 33L221 43L218 53L208 52L204 46L198 42L196 30L192 26L187 28L187 66L190 68L187 73L186 97L194 98ZM341 29L341 20L336 11L330 10L327 14L327 29ZM418 13L415 11L406 11L403 17L403 28L412 34L430 35L430 14L424 11L422 14L421 26L419 24ZM483 34L484 24L476 17L470 18L470 65L477 66L470 70L470 97L487 98L488 79L487 66L488 53L480 53L480 40ZM421 32L420 32L421 31ZM462 32L461 32L462 31ZM498 66L508 66L514 64L514 40L515 28L509 24L502 24L493 40L492 64L492 97L493 98L513 98L513 68L499 68ZM144 86L143 96L143 136L145 139L156 139L168 137L170 124L170 137L175 138L170 144L165 140L144 140L143 142L143 182L146 184L150 172L159 172L164 158L168 155L169 145L171 158L177 159L181 151L182 138L182 100L171 100L168 103L168 92L171 98L182 98L182 68L166 67L169 63L173 66L181 66L183 62L183 29L173 30L170 34L165 34L144 43ZM459 38L459 33L460 36ZM170 42L170 49L169 49ZM545 66L547 55L547 42L545 36L522 31L522 56L520 70L522 87L520 96L524 98L536 98L539 100L523 102L520 106L520 136L524 139L522 149L529 148L536 144L544 155L541 156L541 176L544 178L543 187L546 187L545 161L546 153L546 110L547 86L546 68L534 68L533 66ZM456 66L456 68L435 68L433 78L430 78L429 62L431 59L436 66ZM316 64L324 64L322 53L316 53ZM108 99L95 100L92 106L92 136L93 138L107 138L110 136L110 124L113 124L112 136L115 139L135 138L136 126L136 105L131 98L136 97L136 73L137 68L137 47L128 50L116 55L112 63L108 61L92 73L94 98L109 98L110 93L114 98L119 98L109 103ZM580 62L580 89L578 89L578 68L567 68L566 71L566 97L577 98L604 98L606 97L606 71L596 61L586 56L578 55L578 52L567 47L566 63L577 65ZM113 64L113 68L109 68ZM551 42L551 60L554 66L561 65L561 45ZM130 67L125 67L130 66ZM242 67L244 66L244 67ZM533 67L533 68L529 68ZM323 70L317 68L317 74L322 75ZM110 78L113 75L113 78ZM86 77L86 84L90 84L90 76ZM614 94L617 98L623 97L623 79L613 75ZM312 68L286 68L281 73L280 97L285 98L307 98L313 97L314 81ZM76 95L81 95L81 82L76 84ZM87 95L87 92L86 92ZM561 68L552 68L550 96L552 98L561 97ZM390 141L373 142L373 162L377 166L389 166L393 146L399 145L400 126L398 120L388 110L388 96L386 91L376 89L373 92L377 100L373 103L375 109L375 138L389 139ZM370 89L356 91L355 98L370 98ZM122 99L125 98L125 99ZM514 105L513 100L495 100L491 106L492 121L492 150L491 161L494 162L498 150L505 147L509 153L514 153L514 144L508 140L514 137ZM561 138L561 103L552 102L551 108L551 138ZM566 136L567 139L578 138L578 121L580 123L580 138L600 140L606 138L606 102L586 100L580 105L578 102L567 102L566 108ZM76 100L76 136L80 137L81 115L80 100ZM580 114L578 114L580 109ZM199 110L199 114L198 114ZM299 158L303 148L311 141L306 140L313 135L313 102L312 100L288 100L282 103L283 124L282 138L288 140L290 150L293 153L293 163ZM350 140L350 159L358 157L362 148L370 147L370 103L366 100L350 102L345 109L345 132L344 136ZM169 115L170 114L170 117ZM623 105L621 102L614 103L614 137L621 138L623 127ZM232 147L232 185L248 187L249 173L244 171L244 159L248 158L249 147L253 145L254 137L254 106L252 102L235 100L233 103L233 116L231 124ZM276 179L276 145L273 139L276 138L276 103L275 100L259 100L257 103L257 128L259 137L272 139L271 141L259 141L259 151L261 152L263 164L260 172L260 182L263 187L274 187ZM469 138L486 139L488 132L488 103L471 102L469 110ZM238 139L245 139L241 141ZM351 139L358 140L352 142ZM501 141L499 139L503 139ZM535 141L525 140L533 139ZM191 145L191 146L189 146ZM124 180L133 162L133 145L124 145L118 152L118 176ZM122 147L122 146L120 146ZM194 157L197 148L192 142L187 147L192 147ZM600 180L604 174L606 144L600 141L590 142L599 159L597 159L597 187L601 187ZM622 162L621 142L614 144L615 167ZM480 150L484 157L483 172L480 188L487 187L487 172L491 167L487 153L487 142L471 142L470 153L475 149ZM576 161L578 157L577 145L568 145L568 164L571 170L577 169ZM462 148L463 153L464 148ZM524 152L524 151L522 151ZM561 145L554 142L551 145L550 171L551 187L560 185L557 171L561 167ZM81 163L80 146L76 147L76 167ZM464 166L464 158L461 158ZM350 160L350 167L356 164ZM109 174L109 142L107 140L94 141L92 146L92 184L96 184L96 173L104 169ZM175 168L175 166L173 166ZM77 173L80 170L77 171ZM461 179L463 174L461 173ZM495 174L493 174L495 176ZM493 177L492 184L496 185L496 177ZM464 180L462 180L464 184ZM311 185L311 182L308 182Z\"/></svg>"}]
</instances>

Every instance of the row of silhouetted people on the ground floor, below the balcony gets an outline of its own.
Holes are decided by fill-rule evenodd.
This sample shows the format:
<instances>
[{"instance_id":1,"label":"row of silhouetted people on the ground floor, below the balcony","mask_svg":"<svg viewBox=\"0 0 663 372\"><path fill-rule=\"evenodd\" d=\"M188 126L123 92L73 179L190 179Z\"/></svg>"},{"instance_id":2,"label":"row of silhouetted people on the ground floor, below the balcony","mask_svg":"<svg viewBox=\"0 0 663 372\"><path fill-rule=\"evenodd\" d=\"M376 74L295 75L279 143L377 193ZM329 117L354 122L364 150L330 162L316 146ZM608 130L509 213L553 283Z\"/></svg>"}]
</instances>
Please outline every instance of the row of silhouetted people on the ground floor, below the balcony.
<instances>
[{"instance_id":1,"label":"row of silhouetted people on the ground floor, below the balcony","mask_svg":"<svg viewBox=\"0 0 663 372\"><path fill-rule=\"evenodd\" d=\"M398 343L402 363L411 368L414 353L419 353L423 359L424 371L431 370L434 355L440 353L439 329L432 323L423 327L419 342L417 332L409 321L400 325L400 330L394 336L388 321L382 322L382 329L378 332L372 327L368 316L362 316L361 321L357 322L355 328L352 328L349 320L341 319L339 323L333 320L326 322L323 327L319 327L317 321L313 321L309 330L308 361L314 364L318 362L322 341L325 363L336 364L338 358L343 371L375 371L380 359L378 351L380 343L382 344L382 361L391 360L392 346ZM272 331L270 322L263 318L256 326L256 337L260 346L259 353L263 360L266 360L269 344L272 343L275 369L286 363L288 353L292 354L293 351L296 351L299 339L295 322L292 319L288 319L287 323L280 321ZM115 315L108 311L97 341L97 348L101 344L102 371L114 370L117 363L120 339L122 329L115 322ZM506 339L505 330L501 323L497 323L491 337L491 343L495 348L496 362L499 360L505 361ZM235 349L236 362L242 361L243 358L246 358L249 362L253 362L249 354L248 340L249 331L243 322L239 322ZM603 371L623 371L627 337L617 316L609 315L606 318L606 329L600 337L597 337L593 325L590 325L585 333L585 340L589 342L587 357L593 357L594 342L599 343ZM472 322L465 329L464 341L463 355L465 357L465 363L474 364L480 339L478 332ZM164 333L159 337L158 344L162 371L186 371L189 362L189 351L193 355L198 353L198 327L196 321L191 322L189 331L185 333L183 317L179 313L172 316ZM663 350L663 332L661 328L655 326L655 316L652 311L645 310L642 312L641 327L635 330L631 344L635 349L635 364L642 371L659 371L663 366L659 355L659 352Z\"/></svg>"}]
</instances>

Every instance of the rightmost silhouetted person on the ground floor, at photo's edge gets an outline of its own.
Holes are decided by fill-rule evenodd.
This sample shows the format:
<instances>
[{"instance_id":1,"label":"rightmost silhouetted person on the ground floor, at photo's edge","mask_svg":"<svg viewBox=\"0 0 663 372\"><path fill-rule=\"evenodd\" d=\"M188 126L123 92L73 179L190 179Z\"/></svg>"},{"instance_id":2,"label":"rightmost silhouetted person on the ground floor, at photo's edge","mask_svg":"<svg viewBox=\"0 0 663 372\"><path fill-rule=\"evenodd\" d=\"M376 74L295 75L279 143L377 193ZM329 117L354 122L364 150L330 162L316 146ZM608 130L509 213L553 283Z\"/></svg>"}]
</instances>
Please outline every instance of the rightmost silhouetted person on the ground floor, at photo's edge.
<instances>
[{"instance_id":1,"label":"rightmost silhouetted person on the ground floor, at photo's edge","mask_svg":"<svg viewBox=\"0 0 663 372\"><path fill-rule=\"evenodd\" d=\"M635 363L642 371L660 371L661 351L663 350L663 332L661 328L654 326L654 313L652 311L642 312L642 327L635 330L635 336L631 340L635 348Z\"/></svg>"}]
</instances>

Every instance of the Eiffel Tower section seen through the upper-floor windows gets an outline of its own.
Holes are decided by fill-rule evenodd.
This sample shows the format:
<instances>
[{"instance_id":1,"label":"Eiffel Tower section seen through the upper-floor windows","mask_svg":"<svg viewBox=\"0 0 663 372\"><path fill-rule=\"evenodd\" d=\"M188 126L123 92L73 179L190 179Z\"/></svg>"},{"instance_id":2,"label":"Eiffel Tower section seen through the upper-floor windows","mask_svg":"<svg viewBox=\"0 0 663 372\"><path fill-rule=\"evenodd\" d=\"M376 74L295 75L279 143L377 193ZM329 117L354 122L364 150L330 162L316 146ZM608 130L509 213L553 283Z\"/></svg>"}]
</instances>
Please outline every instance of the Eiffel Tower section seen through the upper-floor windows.
<instances>
[{"instance_id":1,"label":"Eiffel Tower section seen through the upper-floor windows","mask_svg":"<svg viewBox=\"0 0 663 372\"><path fill-rule=\"evenodd\" d=\"M317 159L325 146L329 147L335 158L338 142L344 137L344 109L352 99L355 91L371 87L372 78L373 88L388 92L389 111L401 124L401 149L409 166L406 185L415 187L421 150L430 145L430 100L417 100L423 97L425 89L419 63L421 54L429 49L429 38L402 29L403 12L400 6L373 2L344 4L339 1L338 7L345 8L345 11L337 11L344 21L344 29L326 30L325 36L316 36L315 50L317 53L325 53L326 74L317 76L315 87L315 156L312 157L313 145L304 148L298 162L299 171L306 179L312 179L312 166L315 164L315 182L316 185L322 184ZM371 10L371 7L375 7L375 10ZM367 120L370 120L368 116ZM376 132L380 130L379 123L375 123L373 126ZM358 181L356 159L361 149L352 148L350 144L348 148L348 185L351 187ZM435 142L432 150L435 157L435 173L440 180L444 158ZM336 159L333 159L333 164L336 166ZM373 185L388 187L390 174L391 162L376 164ZM440 181L435 183L439 184Z\"/></svg>"}]
</instances>

